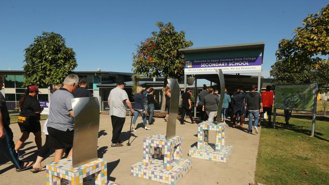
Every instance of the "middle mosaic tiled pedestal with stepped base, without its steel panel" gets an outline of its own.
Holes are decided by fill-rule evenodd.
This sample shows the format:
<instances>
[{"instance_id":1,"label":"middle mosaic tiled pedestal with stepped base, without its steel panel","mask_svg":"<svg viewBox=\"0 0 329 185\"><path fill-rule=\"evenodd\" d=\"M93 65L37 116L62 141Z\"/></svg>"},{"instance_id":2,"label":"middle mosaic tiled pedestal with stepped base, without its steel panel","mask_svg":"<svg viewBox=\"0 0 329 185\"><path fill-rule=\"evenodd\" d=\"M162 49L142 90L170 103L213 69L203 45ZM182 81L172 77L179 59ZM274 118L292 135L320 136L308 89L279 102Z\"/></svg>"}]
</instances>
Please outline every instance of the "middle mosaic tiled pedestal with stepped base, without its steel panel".
<instances>
[{"instance_id":1,"label":"middle mosaic tiled pedestal with stepped base, without its steel panel","mask_svg":"<svg viewBox=\"0 0 329 185\"><path fill-rule=\"evenodd\" d=\"M181 145L181 136L166 140L165 134L154 134L144 138L143 160L131 167L131 174L149 180L176 184L192 167L190 160L181 158Z\"/></svg>"}]
</instances>

